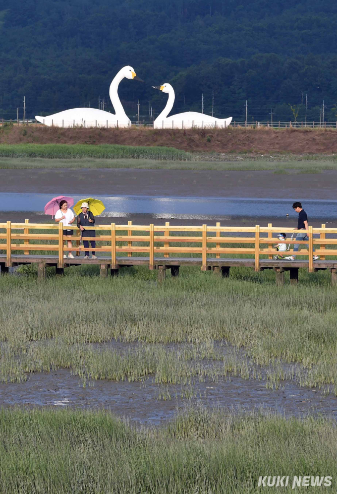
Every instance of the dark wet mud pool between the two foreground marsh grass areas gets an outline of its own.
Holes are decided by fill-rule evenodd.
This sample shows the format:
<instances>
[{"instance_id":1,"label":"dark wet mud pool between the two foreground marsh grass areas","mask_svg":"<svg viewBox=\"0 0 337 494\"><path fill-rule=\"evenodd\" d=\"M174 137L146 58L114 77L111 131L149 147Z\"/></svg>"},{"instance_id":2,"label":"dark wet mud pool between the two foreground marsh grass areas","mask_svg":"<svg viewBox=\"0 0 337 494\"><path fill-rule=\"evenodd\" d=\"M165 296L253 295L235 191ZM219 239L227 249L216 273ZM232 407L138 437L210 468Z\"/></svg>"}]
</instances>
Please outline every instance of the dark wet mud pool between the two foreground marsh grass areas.
<instances>
[{"instance_id":1,"label":"dark wet mud pool between the two foreground marsh grass areas","mask_svg":"<svg viewBox=\"0 0 337 494\"><path fill-rule=\"evenodd\" d=\"M0 406L13 407L79 407L110 409L114 414L141 424L159 425L172 419L187 403L202 402L228 409L273 410L287 416L319 412L337 418L337 398L324 396L320 390L299 388L285 381L281 389L266 389L256 379L227 377L219 382L195 382L196 396L179 396L186 386L164 386L170 400L158 399L163 386L152 382L99 380L85 388L69 370L40 372L29 375L26 382L0 384ZM175 396L177 394L177 396Z\"/></svg>"}]
</instances>

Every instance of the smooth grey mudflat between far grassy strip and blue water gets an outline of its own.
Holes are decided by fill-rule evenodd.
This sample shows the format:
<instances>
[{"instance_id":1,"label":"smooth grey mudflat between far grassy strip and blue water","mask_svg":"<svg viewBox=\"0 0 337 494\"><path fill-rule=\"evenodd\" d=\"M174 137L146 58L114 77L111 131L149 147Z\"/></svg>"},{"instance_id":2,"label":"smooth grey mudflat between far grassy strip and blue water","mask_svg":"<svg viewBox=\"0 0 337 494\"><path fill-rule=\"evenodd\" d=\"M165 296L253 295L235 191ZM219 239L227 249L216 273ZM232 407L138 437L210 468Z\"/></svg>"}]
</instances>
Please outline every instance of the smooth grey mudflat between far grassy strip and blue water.
<instances>
[{"instance_id":1,"label":"smooth grey mudflat between far grassy strip and blue water","mask_svg":"<svg viewBox=\"0 0 337 494\"><path fill-rule=\"evenodd\" d=\"M0 170L0 192L335 199L337 171L21 169ZM268 214L266 214L268 216Z\"/></svg>"}]
</instances>

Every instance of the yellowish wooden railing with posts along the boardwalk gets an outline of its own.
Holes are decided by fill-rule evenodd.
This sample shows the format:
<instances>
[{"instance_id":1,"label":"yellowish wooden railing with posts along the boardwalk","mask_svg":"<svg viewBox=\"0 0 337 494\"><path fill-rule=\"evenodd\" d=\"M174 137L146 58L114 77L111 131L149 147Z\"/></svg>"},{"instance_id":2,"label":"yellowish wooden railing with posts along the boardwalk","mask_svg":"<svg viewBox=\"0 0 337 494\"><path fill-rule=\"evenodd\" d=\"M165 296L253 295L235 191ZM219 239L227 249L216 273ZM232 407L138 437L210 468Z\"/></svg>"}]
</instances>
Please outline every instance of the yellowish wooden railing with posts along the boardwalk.
<instances>
[{"instance_id":1,"label":"yellowish wooden railing with posts along the boardwalk","mask_svg":"<svg viewBox=\"0 0 337 494\"><path fill-rule=\"evenodd\" d=\"M34 251L43 251L43 255L48 255L52 251L58 253L58 266L63 266L66 262L63 258L63 254L67 251L79 251L80 232L76 226L73 227L76 234L71 237L72 241L76 242L74 247L65 247L64 242L70 240L63 236L63 225L61 223L56 224L36 224L29 223L29 220L25 220L25 223L0 223L0 230L4 230L4 233L0 233L0 249L6 251L6 265L10 266L12 262L12 251L23 251L24 255L32 255ZM127 225L96 225L95 227L88 227L87 230L96 230L100 232L100 235L93 237L82 237L83 240L95 240L101 245L95 248L85 248L82 246L82 252L93 251L97 253L109 253L111 257L112 269L117 265L116 257L117 253L126 253L127 256L137 253L147 253L149 255L149 268L154 269L154 258L157 255L164 254L164 257L169 257L170 254L197 254L202 258L202 270L207 269L207 257L213 256L220 258L221 254L242 254L254 257L255 270L260 269L261 256L268 256L272 258L277 253L277 250L273 248L274 244L278 244L280 241L273 237L273 234L284 232L289 234L289 239L286 239L286 244L305 244L309 245L309 249L302 248L296 252L296 256L309 256L308 267L309 271L314 271L313 265L313 246L320 246L316 249L316 254L321 256L321 260L325 259L326 255L337 255L337 239L327 239L327 234L337 234L336 228L326 228L322 225L321 228L313 228L309 226L306 231L309 241L296 241L290 240L292 233L304 233L304 230L294 230L292 228L273 227L270 223L268 227L226 227L217 223L216 226L170 226L167 222L165 225L155 226L150 225L132 225L129 221ZM53 230L55 233L34 233L36 230ZM174 235L171 235L174 232ZM194 235L188 235L193 233ZM226 236L226 234L251 234L251 237L239 237L239 236ZM263 235L266 235L265 237ZM314 238L314 235L319 235L319 238ZM49 243L39 244L36 242L48 241ZM66 242L65 242L66 243ZM141 243L143 245L135 245L135 243ZM172 244L197 244L196 246L172 246ZM144 245L146 244L146 245ZM161 245L158 245L161 244ZM215 246L211 246L214 244ZM224 247L224 244L227 244ZM229 244L229 246L228 246ZM251 244L253 247L240 247L230 244ZM265 245L268 247L261 247ZM326 246L336 245L335 248L326 248ZM292 248L289 250L291 254ZM41 255L41 254L39 254ZM54 254L55 255L55 254ZM286 253L283 252L283 255Z\"/></svg>"}]
</instances>

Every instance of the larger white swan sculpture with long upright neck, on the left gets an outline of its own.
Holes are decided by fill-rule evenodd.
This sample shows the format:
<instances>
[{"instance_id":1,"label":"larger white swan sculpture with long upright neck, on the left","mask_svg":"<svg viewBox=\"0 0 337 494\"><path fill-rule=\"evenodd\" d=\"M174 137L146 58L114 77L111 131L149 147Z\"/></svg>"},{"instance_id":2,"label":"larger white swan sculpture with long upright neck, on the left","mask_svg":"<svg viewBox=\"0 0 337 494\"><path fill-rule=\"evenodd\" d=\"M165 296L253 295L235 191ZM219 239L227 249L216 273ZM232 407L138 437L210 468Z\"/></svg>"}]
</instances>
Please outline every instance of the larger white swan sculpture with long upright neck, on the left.
<instances>
[{"instance_id":1,"label":"larger white swan sculpture with long upright neck, on the left","mask_svg":"<svg viewBox=\"0 0 337 494\"><path fill-rule=\"evenodd\" d=\"M118 97L118 85L122 79L135 79L144 82L138 77L132 67L126 65L121 68L115 75L110 84L109 94L110 99L115 111L115 114L104 112L96 108L72 108L71 110L64 110L63 112L55 113L54 115L48 115L48 117L36 116L36 120L41 124L55 126L55 127L72 127L74 125L85 125L86 127L97 126L115 126L118 123L118 127L128 127L131 125L130 119L124 112L124 108Z\"/></svg>"}]
</instances>

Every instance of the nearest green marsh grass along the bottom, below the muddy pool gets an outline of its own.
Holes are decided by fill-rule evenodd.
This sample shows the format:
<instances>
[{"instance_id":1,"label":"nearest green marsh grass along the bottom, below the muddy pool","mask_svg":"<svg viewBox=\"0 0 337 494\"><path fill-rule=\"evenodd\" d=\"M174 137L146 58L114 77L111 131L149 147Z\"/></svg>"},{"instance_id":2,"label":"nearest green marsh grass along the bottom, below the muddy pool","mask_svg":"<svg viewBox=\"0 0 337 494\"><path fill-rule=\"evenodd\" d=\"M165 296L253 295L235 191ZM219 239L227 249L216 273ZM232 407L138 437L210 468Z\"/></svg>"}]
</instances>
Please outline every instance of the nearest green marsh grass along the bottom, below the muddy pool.
<instances>
[{"instance_id":1,"label":"nearest green marsh grass along the bottom, below the muddy pool","mask_svg":"<svg viewBox=\"0 0 337 494\"><path fill-rule=\"evenodd\" d=\"M17 409L0 412L0 436L6 494L254 494L260 475L289 476L286 493L304 475L336 489L336 426L324 418L197 409L136 430L106 412Z\"/></svg>"}]
</instances>

